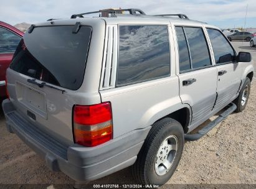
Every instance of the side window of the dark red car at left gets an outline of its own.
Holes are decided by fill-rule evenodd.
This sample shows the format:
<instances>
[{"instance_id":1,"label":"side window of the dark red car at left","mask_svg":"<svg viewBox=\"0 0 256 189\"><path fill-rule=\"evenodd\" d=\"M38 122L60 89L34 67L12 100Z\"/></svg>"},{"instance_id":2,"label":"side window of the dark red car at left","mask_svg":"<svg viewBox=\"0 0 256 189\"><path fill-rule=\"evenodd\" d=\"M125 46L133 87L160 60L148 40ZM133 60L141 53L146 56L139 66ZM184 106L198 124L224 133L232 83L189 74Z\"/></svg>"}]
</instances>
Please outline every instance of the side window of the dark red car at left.
<instances>
[{"instance_id":1,"label":"side window of the dark red car at left","mask_svg":"<svg viewBox=\"0 0 256 189\"><path fill-rule=\"evenodd\" d=\"M13 53L21 37L0 27L0 53Z\"/></svg>"}]
</instances>

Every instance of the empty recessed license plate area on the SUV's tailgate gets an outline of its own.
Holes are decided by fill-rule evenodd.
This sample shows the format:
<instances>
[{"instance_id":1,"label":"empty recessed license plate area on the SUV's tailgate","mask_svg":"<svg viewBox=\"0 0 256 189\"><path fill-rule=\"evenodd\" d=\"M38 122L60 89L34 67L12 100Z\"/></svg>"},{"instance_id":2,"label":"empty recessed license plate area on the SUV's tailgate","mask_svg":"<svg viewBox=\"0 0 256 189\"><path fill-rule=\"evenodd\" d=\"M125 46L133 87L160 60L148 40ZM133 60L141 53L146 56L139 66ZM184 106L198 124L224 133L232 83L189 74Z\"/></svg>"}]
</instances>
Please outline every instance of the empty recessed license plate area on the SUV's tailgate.
<instances>
[{"instance_id":1,"label":"empty recessed license plate area on the SUV's tailgate","mask_svg":"<svg viewBox=\"0 0 256 189\"><path fill-rule=\"evenodd\" d=\"M45 93L23 83L16 82L16 96L19 103L32 113L47 119Z\"/></svg>"}]
</instances>

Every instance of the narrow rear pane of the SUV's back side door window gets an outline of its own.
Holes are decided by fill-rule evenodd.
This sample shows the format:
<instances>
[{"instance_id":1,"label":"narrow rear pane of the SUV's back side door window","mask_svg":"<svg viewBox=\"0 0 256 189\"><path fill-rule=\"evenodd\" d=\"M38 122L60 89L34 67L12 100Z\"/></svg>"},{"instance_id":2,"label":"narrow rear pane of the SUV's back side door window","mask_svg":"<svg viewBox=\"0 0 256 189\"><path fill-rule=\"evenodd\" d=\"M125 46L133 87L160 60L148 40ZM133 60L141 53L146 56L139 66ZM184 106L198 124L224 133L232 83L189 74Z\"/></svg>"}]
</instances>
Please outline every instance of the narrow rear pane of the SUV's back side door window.
<instances>
[{"instance_id":1,"label":"narrow rear pane of the SUV's back side door window","mask_svg":"<svg viewBox=\"0 0 256 189\"><path fill-rule=\"evenodd\" d=\"M189 70L191 68L189 50L187 48L183 27L176 27L176 35L179 46L179 71Z\"/></svg>"}]
</instances>

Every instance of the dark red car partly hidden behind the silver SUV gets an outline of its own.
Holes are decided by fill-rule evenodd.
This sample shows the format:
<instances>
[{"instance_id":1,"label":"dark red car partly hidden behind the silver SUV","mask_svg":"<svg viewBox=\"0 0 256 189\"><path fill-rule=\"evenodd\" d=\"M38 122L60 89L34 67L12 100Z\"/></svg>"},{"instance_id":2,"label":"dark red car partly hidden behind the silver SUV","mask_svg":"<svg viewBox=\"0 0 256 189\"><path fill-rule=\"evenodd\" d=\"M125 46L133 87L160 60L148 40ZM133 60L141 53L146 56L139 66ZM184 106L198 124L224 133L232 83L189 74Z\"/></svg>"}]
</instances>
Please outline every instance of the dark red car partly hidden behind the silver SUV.
<instances>
[{"instance_id":1,"label":"dark red car partly hidden behind the silver SUV","mask_svg":"<svg viewBox=\"0 0 256 189\"><path fill-rule=\"evenodd\" d=\"M6 97L6 69L24 33L0 21L0 98Z\"/></svg>"}]
</instances>

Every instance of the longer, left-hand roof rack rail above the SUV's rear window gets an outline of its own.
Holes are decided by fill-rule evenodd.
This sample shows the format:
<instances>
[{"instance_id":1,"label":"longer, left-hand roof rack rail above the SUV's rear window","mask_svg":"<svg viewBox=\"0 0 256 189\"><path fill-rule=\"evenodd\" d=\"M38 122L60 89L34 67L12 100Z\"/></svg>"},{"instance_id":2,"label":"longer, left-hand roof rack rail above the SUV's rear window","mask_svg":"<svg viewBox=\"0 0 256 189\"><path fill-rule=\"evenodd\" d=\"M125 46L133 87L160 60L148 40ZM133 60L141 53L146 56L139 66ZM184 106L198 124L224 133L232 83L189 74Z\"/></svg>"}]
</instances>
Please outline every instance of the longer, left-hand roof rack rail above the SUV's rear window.
<instances>
[{"instance_id":1,"label":"longer, left-hand roof rack rail above the SUV's rear window","mask_svg":"<svg viewBox=\"0 0 256 189\"><path fill-rule=\"evenodd\" d=\"M146 15L145 12L141 11L141 9L105 9L100 11L93 11L93 12L85 12L81 14L73 14L70 18L75 19L77 17L83 17L83 15L86 14L95 14L95 13L101 13L101 17L109 17L108 14L123 14L123 12L129 12L131 15Z\"/></svg>"}]
</instances>

